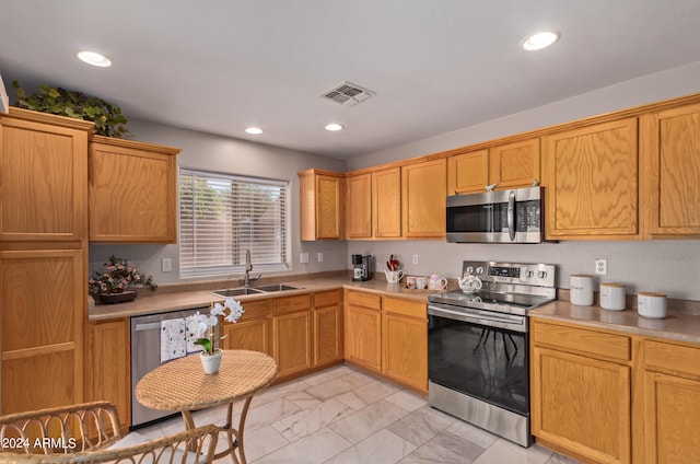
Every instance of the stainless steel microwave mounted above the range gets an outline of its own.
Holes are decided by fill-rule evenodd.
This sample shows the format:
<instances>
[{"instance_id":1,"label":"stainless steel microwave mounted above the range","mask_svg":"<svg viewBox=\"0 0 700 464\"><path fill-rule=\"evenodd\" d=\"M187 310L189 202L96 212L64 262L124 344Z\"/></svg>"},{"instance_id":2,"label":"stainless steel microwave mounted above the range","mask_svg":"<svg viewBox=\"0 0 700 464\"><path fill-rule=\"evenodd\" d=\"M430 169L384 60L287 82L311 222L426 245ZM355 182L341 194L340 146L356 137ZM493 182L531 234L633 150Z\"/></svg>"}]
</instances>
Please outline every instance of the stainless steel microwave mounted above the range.
<instances>
[{"instance_id":1,"label":"stainless steel microwave mounted above the range","mask_svg":"<svg viewBox=\"0 0 700 464\"><path fill-rule=\"evenodd\" d=\"M447 242L540 243L542 198L542 187L448 196Z\"/></svg>"}]
</instances>

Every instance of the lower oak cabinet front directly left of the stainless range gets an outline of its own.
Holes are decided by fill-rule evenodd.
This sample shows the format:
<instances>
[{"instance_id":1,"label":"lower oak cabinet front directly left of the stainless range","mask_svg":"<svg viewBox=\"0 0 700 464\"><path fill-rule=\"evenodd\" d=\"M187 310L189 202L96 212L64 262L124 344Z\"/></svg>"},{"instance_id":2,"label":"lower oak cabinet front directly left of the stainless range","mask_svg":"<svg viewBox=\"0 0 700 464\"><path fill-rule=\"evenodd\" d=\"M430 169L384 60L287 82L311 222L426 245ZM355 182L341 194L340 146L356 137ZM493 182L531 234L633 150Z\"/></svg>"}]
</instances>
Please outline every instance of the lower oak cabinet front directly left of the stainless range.
<instances>
[{"instance_id":1,"label":"lower oak cabinet front directly left of the stainless range","mask_svg":"<svg viewBox=\"0 0 700 464\"><path fill-rule=\"evenodd\" d=\"M382 301L382 372L423 393L428 392L425 317L423 303L388 298Z\"/></svg>"}]
</instances>

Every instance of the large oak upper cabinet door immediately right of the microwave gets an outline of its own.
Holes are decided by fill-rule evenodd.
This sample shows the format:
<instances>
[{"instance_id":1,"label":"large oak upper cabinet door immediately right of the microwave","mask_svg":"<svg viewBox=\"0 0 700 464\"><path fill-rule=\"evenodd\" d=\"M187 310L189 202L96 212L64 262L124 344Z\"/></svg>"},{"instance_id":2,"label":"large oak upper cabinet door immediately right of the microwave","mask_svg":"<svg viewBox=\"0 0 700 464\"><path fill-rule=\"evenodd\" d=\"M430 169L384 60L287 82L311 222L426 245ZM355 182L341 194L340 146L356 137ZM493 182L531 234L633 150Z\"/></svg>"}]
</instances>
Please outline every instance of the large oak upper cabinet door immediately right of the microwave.
<instances>
[{"instance_id":1,"label":"large oak upper cabinet door immediately right of the microwave","mask_svg":"<svg viewBox=\"0 0 700 464\"><path fill-rule=\"evenodd\" d=\"M639 239L637 118L544 138L548 239Z\"/></svg>"}]
</instances>

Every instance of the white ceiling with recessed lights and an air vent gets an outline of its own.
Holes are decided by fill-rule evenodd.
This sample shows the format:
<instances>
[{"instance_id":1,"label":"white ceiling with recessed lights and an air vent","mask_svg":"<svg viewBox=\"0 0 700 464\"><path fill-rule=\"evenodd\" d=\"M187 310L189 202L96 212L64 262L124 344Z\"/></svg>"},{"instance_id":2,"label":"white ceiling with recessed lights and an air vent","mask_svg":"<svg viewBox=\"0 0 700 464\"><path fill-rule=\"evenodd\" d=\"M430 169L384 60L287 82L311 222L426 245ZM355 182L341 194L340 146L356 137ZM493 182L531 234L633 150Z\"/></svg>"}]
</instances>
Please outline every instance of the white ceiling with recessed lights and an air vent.
<instances>
[{"instance_id":1,"label":"white ceiling with recessed lights and an air vent","mask_svg":"<svg viewBox=\"0 0 700 464\"><path fill-rule=\"evenodd\" d=\"M347 159L700 60L699 25L696 0L5 0L0 73L11 95L13 79L63 86L130 118ZM518 48L540 30L561 39ZM343 81L376 96L320 98Z\"/></svg>"}]
</instances>

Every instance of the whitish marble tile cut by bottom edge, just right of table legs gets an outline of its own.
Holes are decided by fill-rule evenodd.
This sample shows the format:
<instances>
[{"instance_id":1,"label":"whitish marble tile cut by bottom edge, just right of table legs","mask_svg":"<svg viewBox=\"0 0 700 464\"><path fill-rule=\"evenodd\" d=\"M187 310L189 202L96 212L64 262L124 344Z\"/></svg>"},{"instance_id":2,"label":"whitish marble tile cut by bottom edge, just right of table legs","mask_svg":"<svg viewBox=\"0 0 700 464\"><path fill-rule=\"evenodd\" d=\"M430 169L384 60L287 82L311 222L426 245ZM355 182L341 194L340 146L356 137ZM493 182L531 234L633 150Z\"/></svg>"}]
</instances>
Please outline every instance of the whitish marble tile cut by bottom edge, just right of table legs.
<instances>
[{"instance_id":1,"label":"whitish marble tile cut by bottom edge, just right of table legs","mask_svg":"<svg viewBox=\"0 0 700 464\"><path fill-rule=\"evenodd\" d=\"M288 444L262 459L256 464L317 464L351 446L351 443L328 428L320 429L293 443ZM378 464L378 463L377 463Z\"/></svg>"}]
</instances>

